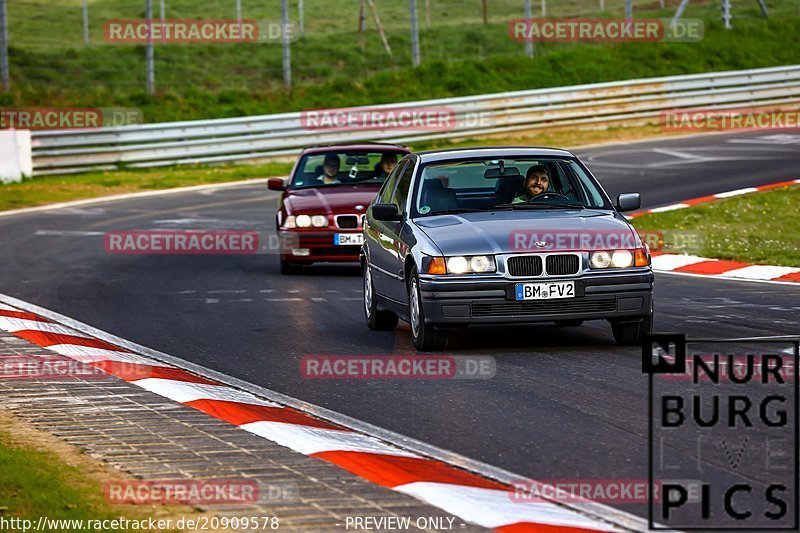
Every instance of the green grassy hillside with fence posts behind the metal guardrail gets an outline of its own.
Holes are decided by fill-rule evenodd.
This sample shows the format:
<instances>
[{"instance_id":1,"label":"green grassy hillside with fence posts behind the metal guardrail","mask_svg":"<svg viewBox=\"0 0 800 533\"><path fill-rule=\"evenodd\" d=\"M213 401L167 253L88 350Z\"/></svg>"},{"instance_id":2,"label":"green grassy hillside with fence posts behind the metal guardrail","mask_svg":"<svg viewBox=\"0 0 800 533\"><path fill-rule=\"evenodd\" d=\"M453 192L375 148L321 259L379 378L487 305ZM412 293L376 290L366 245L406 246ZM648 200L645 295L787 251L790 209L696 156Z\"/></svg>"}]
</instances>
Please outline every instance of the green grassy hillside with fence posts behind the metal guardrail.
<instances>
[{"instance_id":1,"label":"green grassy hillside with fence posts behind the metal guardrail","mask_svg":"<svg viewBox=\"0 0 800 533\"><path fill-rule=\"evenodd\" d=\"M755 68L800 62L798 5L770 2L764 20L755 0L734 3L734 29L718 22L719 4L697 0L686 17L707 22L698 43L543 43L536 57L508 38L522 16L518 0L419 0L423 64L410 66L408 2L376 0L393 55L371 19L357 31L356 0L304 0L305 34L292 45L294 90L282 86L281 49L274 44L157 45L157 94L144 90L144 47L103 41L103 23L142 18L144 0L90 0L90 44L83 42L81 0L9 3L12 91L0 105L131 106L145 121L228 117L306 108L361 105L591 83L634 77ZM159 0L153 0L156 16ZM234 0L165 0L169 18L235 17ZM242 0L244 17L277 20L279 1ZM297 0L291 0L297 19ZM589 0L550 0L549 16L620 17L624 2L605 13ZM637 17L668 17L677 0L635 3ZM534 16L540 14L534 2Z\"/></svg>"}]
</instances>

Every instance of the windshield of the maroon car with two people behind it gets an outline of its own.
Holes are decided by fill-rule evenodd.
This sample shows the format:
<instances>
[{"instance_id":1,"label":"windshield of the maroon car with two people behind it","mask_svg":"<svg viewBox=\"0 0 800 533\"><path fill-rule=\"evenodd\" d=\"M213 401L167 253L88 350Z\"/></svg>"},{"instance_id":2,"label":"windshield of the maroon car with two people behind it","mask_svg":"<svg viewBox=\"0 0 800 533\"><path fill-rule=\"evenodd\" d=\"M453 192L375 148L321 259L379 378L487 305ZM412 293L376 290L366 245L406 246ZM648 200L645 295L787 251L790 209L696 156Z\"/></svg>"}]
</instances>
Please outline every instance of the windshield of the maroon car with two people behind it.
<instances>
[{"instance_id":1,"label":"windshield of the maroon car with two people behind it","mask_svg":"<svg viewBox=\"0 0 800 533\"><path fill-rule=\"evenodd\" d=\"M292 189L337 185L380 185L405 155L396 150L332 150L302 157Z\"/></svg>"}]
</instances>

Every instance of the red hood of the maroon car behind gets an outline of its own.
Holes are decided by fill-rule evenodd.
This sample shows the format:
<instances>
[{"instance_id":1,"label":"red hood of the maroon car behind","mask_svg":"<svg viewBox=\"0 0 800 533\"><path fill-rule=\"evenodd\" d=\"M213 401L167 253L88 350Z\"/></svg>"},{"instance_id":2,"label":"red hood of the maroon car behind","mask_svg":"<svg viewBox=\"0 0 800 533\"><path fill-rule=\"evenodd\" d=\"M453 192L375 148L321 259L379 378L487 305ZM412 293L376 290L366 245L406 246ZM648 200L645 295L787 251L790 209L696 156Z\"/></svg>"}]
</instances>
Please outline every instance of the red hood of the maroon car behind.
<instances>
[{"instance_id":1,"label":"red hood of the maroon car behind","mask_svg":"<svg viewBox=\"0 0 800 533\"><path fill-rule=\"evenodd\" d=\"M284 204L292 215L366 212L379 188L369 185L339 185L295 189L287 193ZM356 206L362 208L357 210Z\"/></svg>"}]
</instances>

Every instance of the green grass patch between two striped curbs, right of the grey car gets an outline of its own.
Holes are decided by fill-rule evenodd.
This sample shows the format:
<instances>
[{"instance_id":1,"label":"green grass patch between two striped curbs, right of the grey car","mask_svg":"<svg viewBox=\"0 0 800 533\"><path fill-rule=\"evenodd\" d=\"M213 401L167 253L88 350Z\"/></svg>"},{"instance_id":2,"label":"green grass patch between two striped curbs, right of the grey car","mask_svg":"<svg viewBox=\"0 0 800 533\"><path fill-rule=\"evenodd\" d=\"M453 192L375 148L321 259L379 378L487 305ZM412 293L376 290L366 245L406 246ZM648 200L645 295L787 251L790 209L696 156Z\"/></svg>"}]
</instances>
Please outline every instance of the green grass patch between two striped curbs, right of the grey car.
<instances>
[{"instance_id":1,"label":"green grass patch between two striped curbs, right of the grey car","mask_svg":"<svg viewBox=\"0 0 800 533\"><path fill-rule=\"evenodd\" d=\"M692 253L712 259L800 267L800 186L637 217L637 230L700 236Z\"/></svg>"}]
</instances>

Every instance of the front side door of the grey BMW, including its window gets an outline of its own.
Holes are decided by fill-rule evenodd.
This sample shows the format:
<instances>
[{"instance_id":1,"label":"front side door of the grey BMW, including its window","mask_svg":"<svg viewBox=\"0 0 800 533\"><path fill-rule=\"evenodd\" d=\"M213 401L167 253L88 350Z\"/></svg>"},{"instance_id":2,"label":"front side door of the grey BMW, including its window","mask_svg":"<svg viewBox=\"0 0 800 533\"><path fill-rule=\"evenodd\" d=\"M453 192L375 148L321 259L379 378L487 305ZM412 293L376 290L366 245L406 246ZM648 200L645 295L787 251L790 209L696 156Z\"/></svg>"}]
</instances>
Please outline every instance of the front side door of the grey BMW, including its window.
<instances>
[{"instance_id":1,"label":"front side door of the grey BMW, including its window","mask_svg":"<svg viewBox=\"0 0 800 533\"><path fill-rule=\"evenodd\" d=\"M403 228L406 227L405 221L408 219L406 204L408 203L408 194L413 181L415 166L414 159L410 159L397 179L397 186L389 200L389 203L397 206L397 210L402 215L402 220L387 222L383 228L382 241L385 244L384 250L386 251L387 260L384 294L397 302L405 302L408 299L403 278L407 249L403 239Z\"/></svg>"}]
</instances>

